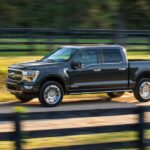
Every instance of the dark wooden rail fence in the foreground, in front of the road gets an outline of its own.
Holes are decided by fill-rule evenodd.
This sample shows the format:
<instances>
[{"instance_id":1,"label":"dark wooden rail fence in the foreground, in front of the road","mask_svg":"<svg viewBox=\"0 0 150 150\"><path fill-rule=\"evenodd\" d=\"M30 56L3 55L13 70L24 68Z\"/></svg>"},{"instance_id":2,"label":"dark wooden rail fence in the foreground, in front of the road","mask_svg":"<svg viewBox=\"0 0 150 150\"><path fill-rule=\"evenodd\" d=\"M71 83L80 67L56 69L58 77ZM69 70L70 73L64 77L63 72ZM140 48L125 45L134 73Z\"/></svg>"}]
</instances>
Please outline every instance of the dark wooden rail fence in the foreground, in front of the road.
<instances>
[{"instance_id":1,"label":"dark wooden rail fence in the foreground, in front of the road","mask_svg":"<svg viewBox=\"0 0 150 150\"><path fill-rule=\"evenodd\" d=\"M72 145L64 147L53 148L39 148L39 150L82 150L82 149L118 149L118 148L138 148L144 150L146 146L150 146L150 140L145 139L144 131L150 129L150 123L145 122L145 113L150 112L150 107L136 107L136 108L112 108L112 109L95 109L95 110L73 110L73 111L49 111L49 112L28 112L24 114L10 113L0 114L0 123L6 121L14 122L13 132L1 132L0 141L14 141L16 150L22 150L23 135L27 135L26 139L44 138L44 137L60 137L69 135L82 135L94 133L115 133L124 131L138 132L137 140L132 141L116 141L97 144L86 145ZM23 120L45 120L45 119L66 119L66 118L86 118L86 117L102 117L102 116L118 116L121 115L137 115L138 123L111 125L111 126L96 126L96 127L80 127L80 128L65 128L65 129L48 129L48 130L33 130L23 131L21 122ZM33 127L34 129L34 127Z\"/></svg>"}]
</instances>

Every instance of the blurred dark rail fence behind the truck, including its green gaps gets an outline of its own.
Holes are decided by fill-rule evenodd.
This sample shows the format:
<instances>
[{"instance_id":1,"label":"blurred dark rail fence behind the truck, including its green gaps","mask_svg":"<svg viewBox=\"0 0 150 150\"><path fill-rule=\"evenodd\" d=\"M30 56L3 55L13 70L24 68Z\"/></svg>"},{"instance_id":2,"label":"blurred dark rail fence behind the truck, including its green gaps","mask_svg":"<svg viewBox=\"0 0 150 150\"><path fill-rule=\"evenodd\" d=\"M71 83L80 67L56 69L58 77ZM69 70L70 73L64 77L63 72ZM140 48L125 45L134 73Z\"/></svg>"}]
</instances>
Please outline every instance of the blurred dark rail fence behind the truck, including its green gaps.
<instances>
[{"instance_id":1,"label":"blurred dark rail fence behind the truck, including its green gaps","mask_svg":"<svg viewBox=\"0 0 150 150\"><path fill-rule=\"evenodd\" d=\"M52 45L68 44L122 44L148 50L150 30L0 28L0 52L47 51Z\"/></svg>"}]
</instances>

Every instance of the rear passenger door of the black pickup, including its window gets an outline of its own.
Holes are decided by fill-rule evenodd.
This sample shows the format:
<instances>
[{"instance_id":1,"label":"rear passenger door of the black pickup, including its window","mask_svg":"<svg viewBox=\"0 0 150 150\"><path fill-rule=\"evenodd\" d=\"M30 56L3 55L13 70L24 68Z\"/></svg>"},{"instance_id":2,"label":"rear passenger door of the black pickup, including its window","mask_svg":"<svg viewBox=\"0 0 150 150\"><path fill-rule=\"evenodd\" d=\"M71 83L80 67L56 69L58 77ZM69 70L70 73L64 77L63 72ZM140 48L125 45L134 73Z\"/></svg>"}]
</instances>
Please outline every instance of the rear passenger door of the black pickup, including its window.
<instances>
[{"instance_id":1,"label":"rear passenger door of the black pickup, including its window","mask_svg":"<svg viewBox=\"0 0 150 150\"><path fill-rule=\"evenodd\" d=\"M99 72L102 89L126 89L128 87L128 63L119 48L102 48L102 68Z\"/></svg>"}]
</instances>

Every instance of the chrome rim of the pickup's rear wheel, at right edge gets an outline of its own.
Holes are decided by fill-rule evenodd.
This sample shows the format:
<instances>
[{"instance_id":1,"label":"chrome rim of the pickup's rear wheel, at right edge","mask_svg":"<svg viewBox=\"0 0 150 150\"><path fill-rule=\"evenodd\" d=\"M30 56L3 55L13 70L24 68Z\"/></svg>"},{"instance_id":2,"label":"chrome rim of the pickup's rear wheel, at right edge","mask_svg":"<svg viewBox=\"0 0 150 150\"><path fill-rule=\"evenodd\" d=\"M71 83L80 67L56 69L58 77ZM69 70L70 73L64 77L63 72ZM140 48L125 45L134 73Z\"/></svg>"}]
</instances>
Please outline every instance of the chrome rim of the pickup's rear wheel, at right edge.
<instances>
[{"instance_id":1,"label":"chrome rim of the pickup's rear wheel, at right edge","mask_svg":"<svg viewBox=\"0 0 150 150\"><path fill-rule=\"evenodd\" d=\"M150 99L150 82L143 82L140 86L140 95L143 99Z\"/></svg>"}]
</instances>

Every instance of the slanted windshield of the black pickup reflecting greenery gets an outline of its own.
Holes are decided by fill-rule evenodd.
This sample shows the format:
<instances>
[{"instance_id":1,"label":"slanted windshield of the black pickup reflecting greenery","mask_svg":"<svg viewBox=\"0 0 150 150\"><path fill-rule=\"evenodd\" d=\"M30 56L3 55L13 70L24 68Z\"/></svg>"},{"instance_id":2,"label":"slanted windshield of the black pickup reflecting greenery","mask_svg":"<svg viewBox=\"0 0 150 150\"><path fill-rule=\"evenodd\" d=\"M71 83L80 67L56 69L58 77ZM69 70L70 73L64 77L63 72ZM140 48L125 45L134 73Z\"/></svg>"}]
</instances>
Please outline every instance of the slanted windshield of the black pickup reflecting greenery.
<instances>
[{"instance_id":1,"label":"slanted windshield of the black pickup reflecting greenery","mask_svg":"<svg viewBox=\"0 0 150 150\"><path fill-rule=\"evenodd\" d=\"M71 58L76 50L77 49L75 48L61 48L54 51L52 54L44 57L42 61L65 62Z\"/></svg>"}]
</instances>

